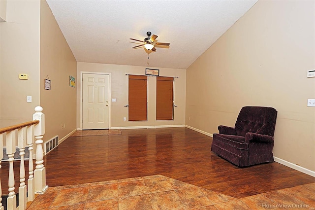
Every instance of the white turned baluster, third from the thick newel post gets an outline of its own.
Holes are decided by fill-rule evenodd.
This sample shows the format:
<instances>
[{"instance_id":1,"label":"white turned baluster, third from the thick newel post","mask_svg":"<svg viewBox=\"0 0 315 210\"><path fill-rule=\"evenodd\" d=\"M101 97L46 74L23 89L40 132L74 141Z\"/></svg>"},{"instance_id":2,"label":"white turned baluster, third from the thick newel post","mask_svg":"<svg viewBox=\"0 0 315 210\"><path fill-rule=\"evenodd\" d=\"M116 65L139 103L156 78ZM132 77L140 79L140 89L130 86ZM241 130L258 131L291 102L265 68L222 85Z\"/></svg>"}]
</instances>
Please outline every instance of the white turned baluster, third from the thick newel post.
<instances>
[{"instance_id":1,"label":"white turned baluster, third from the thick newel post","mask_svg":"<svg viewBox=\"0 0 315 210\"><path fill-rule=\"evenodd\" d=\"M8 154L9 161L9 195L6 200L7 209L15 210L16 209L16 195L14 192L14 171L13 171L13 161L15 153L15 140L17 139L17 129L11 132L8 132L6 135L6 154Z\"/></svg>"}]
</instances>

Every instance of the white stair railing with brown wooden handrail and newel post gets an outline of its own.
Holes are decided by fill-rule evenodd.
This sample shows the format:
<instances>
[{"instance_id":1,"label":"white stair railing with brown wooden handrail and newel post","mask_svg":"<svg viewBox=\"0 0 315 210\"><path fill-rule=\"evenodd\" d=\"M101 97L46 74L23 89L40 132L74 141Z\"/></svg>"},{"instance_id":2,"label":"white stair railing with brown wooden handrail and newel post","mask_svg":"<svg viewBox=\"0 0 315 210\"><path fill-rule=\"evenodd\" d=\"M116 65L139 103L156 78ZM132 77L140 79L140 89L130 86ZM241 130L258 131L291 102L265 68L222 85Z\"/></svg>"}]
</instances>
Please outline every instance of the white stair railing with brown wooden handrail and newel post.
<instances>
[{"instance_id":1,"label":"white stair railing with brown wooden handrail and newel post","mask_svg":"<svg viewBox=\"0 0 315 210\"><path fill-rule=\"evenodd\" d=\"M45 134L45 114L42 113L43 108L40 106L35 107L33 114L33 121L21 123L18 125L0 129L0 168L1 160L3 159L3 141L6 141L6 154L8 155L9 162L9 175L8 175L8 198L7 210L26 210L27 202L34 200L35 193L42 194L46 191L46 170L43 165L43 135ZM34 142L35 139L35 142ZM14 180L14 153L16 151L16 142L18 143L20 161L20 187L19 187L19 206L16 207L15 180ZM35 152L35 170L33 169L33 144L36 144ZM28 184L25 180L25 165L24 155L25 149L29 149L29 177ZM0 180L0 197L2 196L1 180ZM0 198L0 210L3 210L2 198Z\"/></svg>"}]
</instances>

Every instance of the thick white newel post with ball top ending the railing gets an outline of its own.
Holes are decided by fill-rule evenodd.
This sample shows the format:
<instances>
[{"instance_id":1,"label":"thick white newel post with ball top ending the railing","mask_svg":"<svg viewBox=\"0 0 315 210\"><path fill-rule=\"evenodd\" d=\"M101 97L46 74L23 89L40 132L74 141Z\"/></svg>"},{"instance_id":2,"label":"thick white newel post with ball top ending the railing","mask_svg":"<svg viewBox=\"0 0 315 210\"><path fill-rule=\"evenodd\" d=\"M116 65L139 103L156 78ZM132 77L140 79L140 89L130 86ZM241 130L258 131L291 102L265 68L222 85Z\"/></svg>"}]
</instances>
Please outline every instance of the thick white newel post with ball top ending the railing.
<instances>
[{"instance_id":1,"label":"thick white newel post with ball top ending the railing","mask_svg":"<svg viewBox=\"0 0 315 210\"><path fill-rule=\"evenodd\" d=\"M34 126L34 136L36 144L36 167L34 170L35 193L44 193L48 186L46 186L46 169L44 167L43 154L43 135L45 134L45 114L42 112L41 106L35 107L33 120L39 120L39 123ZM30 157L31 158L31 157Z\"/></svg>"}]
</instances>

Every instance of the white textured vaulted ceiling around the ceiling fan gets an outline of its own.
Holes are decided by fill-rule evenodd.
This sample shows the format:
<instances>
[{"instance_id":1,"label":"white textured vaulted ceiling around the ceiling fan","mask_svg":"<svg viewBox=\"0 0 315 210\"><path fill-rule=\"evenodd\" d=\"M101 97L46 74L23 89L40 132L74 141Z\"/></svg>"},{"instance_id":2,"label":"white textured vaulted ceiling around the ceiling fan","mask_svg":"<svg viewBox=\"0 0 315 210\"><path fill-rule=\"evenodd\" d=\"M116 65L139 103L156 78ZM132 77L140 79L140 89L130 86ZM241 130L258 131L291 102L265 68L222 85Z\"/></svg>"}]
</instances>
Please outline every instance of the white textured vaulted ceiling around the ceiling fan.
<instances>
[{"instance_id":1,"label":"white textured vaulted ceiling around the ceiling fan","mask_svg":"<svg viewBox=\"0 0 315 210\"><path fill-rule=\"evenodd\" d=\"M79 62L187 69L257 0L47 0ZM158 35L148 53L132 49Z\"/></svg>"}]
</instances>

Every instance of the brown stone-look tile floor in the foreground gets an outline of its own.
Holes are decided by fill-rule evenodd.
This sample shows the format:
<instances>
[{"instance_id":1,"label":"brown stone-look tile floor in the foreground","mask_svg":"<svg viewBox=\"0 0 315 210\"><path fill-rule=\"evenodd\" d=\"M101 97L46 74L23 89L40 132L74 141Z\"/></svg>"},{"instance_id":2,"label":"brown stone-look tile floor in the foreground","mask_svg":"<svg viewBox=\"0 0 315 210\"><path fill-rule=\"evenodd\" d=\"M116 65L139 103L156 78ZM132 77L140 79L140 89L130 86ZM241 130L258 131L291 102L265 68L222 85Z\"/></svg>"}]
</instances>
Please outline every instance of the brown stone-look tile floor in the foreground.
<instances>
[{"instance_id":1,"label":"brown stone-look tile floor in the foreground","mask_svg":"<svg viewBox=\"0 0 315 210\"><path fill-rule=\"evenodd\" d=\"M315 208L315 183L236 199L162 175L50 187L29 210L259 210Z\"/></svg>"}]
</instances>

